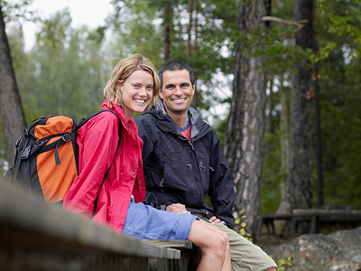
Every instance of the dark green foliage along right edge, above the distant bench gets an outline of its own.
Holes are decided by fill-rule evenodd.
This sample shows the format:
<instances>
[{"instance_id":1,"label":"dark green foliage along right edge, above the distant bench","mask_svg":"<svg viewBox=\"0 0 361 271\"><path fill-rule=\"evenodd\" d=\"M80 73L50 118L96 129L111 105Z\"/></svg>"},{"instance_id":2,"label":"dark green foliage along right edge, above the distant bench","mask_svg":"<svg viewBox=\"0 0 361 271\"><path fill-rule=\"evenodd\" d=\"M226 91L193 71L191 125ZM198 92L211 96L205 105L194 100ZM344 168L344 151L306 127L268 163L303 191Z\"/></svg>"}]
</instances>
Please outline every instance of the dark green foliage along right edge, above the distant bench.
<instances>
[{"instance_id":1,"label":"dark green foliage along right edge, above the distant bench","mask_svg":"<svg viewBox=\"0 0 361 271\"><path fill-rule=\"evenodd\" d=\"M319 1L319 43L332 44L319 65L325 204L358 208L360 7L359 0Z\"/></svg>"}]
</instances>

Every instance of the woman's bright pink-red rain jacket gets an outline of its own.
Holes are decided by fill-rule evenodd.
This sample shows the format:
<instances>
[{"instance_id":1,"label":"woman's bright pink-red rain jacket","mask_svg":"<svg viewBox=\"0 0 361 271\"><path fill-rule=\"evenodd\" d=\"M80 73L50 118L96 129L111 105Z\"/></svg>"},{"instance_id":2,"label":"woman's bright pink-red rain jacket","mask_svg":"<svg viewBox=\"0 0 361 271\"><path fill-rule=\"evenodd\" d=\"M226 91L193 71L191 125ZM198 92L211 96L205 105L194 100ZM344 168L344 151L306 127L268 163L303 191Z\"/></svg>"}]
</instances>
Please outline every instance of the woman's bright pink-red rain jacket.
<instances>
[{"instance_id":1,"label":"woman's bright pink-red rain jacket","mask_svg":"<svg viewBox=\"0 0 361 271\"><path fill-rule=\"evenodd\" d=\"M121 142L116 157L119 121L110 112L100 113L79 129L79 176L72 183L63 201L63 208L89 217L93 211L97 192L107 168L113 164L106 177L93 218L98 224L107 224L122 232L132 194L135 202L142 202L145 195L142 146L134 117L129 122L123 109L113 101L113 108L122 121Z\"/></svg>"}]
</instances>

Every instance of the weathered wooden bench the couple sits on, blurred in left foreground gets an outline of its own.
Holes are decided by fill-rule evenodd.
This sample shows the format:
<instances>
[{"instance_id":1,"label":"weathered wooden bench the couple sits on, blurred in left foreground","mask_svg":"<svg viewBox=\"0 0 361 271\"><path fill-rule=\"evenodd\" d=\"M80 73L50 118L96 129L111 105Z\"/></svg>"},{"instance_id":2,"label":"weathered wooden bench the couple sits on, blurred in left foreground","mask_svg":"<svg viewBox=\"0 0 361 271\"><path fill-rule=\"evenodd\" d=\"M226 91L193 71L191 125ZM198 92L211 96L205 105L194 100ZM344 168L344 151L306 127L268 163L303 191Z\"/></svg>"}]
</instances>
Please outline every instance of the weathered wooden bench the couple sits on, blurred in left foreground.
<instances>
[{"instance_id":1,"label":"weathered wooden bench the couple sits on, blurred in left foreground","mask_svg":"<svg viewBox=\"0 0 361 271\"><path fill-rule=\"evenodd\" d=\"M129 238L0 180L0 270L187 270L191 243Z\"/></svg>"}]
</instances>

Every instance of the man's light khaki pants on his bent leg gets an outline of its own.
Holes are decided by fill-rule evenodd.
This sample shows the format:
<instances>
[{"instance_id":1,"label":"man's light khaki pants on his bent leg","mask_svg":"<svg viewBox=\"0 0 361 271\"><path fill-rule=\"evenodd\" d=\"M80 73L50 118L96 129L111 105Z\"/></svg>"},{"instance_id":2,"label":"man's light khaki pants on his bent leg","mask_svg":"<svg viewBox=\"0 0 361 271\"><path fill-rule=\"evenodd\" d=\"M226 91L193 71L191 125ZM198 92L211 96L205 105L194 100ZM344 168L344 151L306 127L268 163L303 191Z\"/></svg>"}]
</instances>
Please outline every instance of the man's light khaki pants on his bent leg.
<instances>
[{"instance_id":1,"label":"man's light khaki pants on his bent leg","mask_svg":"<svg viewBox=\"0 0 361 271\"><path fill-rule=\"evenodd\" d=\"M273 259L269 257L262 248L248 241L246 238L236 233L235 230L229 229L227 226L212 224L207 217L202 214L193 213L193 215L198 216L200 221L227 233L231 248L231 265L233 271L264 271L268 268L277 267Z\"/></svg>"}]
</instances>

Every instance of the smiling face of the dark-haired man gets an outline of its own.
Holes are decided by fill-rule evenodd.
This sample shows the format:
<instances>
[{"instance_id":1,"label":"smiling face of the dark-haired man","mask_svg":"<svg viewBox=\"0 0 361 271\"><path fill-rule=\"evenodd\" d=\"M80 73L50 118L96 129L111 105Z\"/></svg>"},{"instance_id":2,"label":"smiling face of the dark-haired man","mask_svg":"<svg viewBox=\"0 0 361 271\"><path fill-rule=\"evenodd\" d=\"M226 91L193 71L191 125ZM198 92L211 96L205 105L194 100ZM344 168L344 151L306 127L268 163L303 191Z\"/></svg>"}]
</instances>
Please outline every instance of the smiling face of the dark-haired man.
<instances>
[{"instance_id":1,"label":"smiling face of the dark-haired man","mask_svg":"<svg viewBox=\"0 0 361 271\"><path fill-rule=\"evenodd\" d=\"M194 86L190 82L188 70L165 70L163 72L162 91L164 107L168 114L182 114L188 111L193 100Z\"/></svg>"}]
</instances>

